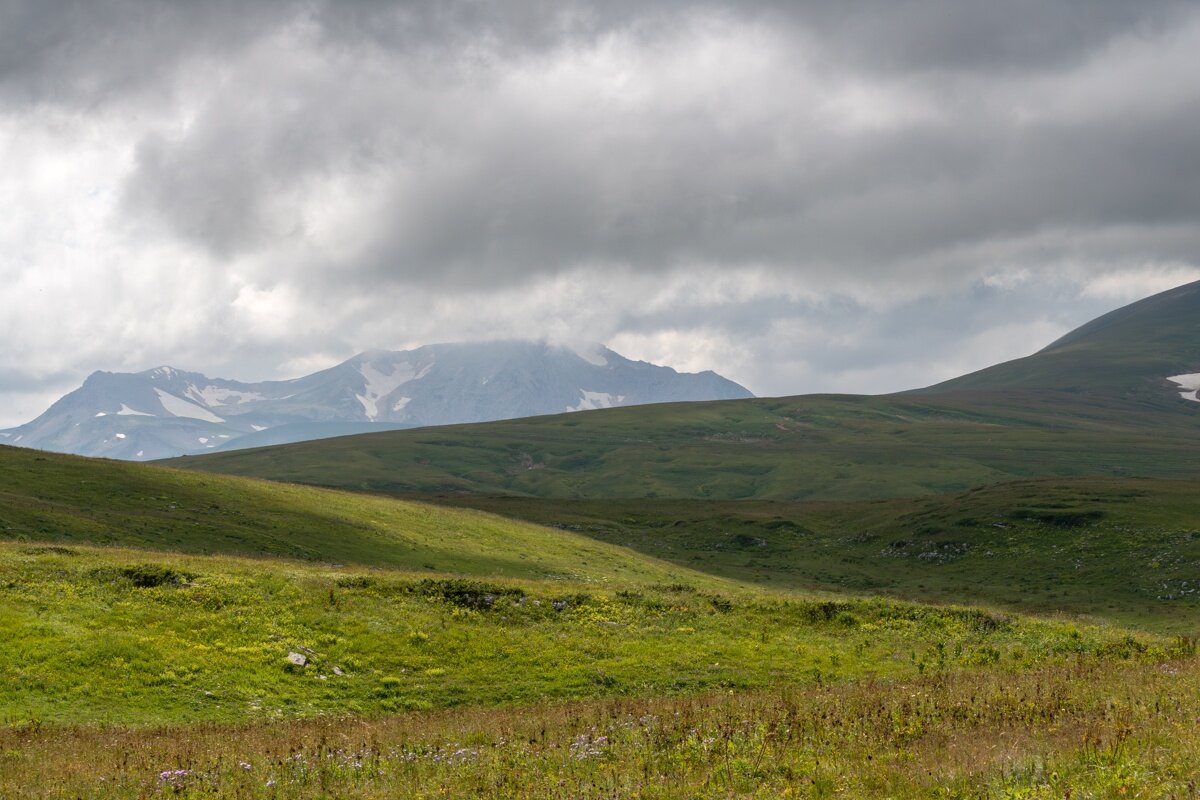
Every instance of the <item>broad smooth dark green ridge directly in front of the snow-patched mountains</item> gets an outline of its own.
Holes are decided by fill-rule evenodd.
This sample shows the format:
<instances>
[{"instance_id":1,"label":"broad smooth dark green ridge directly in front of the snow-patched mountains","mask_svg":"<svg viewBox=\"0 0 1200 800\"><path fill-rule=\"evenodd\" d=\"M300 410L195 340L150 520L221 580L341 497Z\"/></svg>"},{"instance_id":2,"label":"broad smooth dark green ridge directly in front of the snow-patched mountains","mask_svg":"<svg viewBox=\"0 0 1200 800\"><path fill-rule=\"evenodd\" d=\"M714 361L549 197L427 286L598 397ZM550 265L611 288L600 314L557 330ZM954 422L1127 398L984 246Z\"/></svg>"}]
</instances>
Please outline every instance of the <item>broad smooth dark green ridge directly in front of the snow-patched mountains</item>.
<instances>
[{"instance_id":1,"label":"broad smooth dark green ridge directly in front of the snow-patched mountains","mask_svg":"<svg viewBox=\"0 0 1200 800\"><path fill-rule=\"evenodd\" d=\"M1165 390L1164 390L1165 391ZM852 500L1042 476L1195 475L1200 405L1066 392L611 409L214 453L187 469L372 492Z\"/></svg>"}]
</instances>

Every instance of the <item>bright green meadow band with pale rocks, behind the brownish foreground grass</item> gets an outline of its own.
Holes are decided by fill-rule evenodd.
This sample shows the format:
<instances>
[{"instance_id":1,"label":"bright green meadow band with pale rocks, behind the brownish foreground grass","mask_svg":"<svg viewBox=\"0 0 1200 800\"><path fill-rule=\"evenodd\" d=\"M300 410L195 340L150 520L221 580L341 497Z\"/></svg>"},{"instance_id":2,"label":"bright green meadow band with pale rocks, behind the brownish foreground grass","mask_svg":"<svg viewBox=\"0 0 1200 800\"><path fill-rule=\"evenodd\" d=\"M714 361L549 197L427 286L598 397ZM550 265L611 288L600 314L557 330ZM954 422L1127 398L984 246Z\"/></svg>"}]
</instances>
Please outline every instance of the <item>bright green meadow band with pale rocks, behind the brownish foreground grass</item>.
<instances>
[{"instance_id":1,"label":"bright green meadow band with pale rocks, behind the brownish foreground grass","mask_svg":"<svg viewBox=\"0 0 1200 800\"><path fill-rule=\"evenodd\" d=\"M1162 658L1176 646L883 600L421 578L60 545L0 545L0 587L8 724L374 716ZM290 664L292 652L310 663Z\"/></svg>"}]
</instances>

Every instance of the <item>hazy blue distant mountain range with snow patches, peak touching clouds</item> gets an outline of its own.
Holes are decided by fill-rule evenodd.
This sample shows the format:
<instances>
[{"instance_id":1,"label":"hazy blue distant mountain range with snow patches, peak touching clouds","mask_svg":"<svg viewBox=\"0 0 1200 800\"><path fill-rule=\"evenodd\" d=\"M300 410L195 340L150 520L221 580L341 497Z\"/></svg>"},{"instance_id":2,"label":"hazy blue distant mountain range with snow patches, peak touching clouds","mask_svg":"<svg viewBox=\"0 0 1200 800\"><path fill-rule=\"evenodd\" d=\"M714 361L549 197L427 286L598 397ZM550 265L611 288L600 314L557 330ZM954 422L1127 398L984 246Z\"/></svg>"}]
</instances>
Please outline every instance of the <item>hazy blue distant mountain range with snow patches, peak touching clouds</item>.
<instances>
[{"instance_id":1,"label":"hazy blue distant mountain range with snow patches, peak touching clouds","mask_svg":"<svg viewBox=\"0 0 1200 800\"><path fill-rule=\"evenodd\" d=\"M0 444L152 459L427 425L752 397L605 348L536 342L372 350L293 380L241 383L173 367L92 373Z\"/></svg>"}]
</instances>

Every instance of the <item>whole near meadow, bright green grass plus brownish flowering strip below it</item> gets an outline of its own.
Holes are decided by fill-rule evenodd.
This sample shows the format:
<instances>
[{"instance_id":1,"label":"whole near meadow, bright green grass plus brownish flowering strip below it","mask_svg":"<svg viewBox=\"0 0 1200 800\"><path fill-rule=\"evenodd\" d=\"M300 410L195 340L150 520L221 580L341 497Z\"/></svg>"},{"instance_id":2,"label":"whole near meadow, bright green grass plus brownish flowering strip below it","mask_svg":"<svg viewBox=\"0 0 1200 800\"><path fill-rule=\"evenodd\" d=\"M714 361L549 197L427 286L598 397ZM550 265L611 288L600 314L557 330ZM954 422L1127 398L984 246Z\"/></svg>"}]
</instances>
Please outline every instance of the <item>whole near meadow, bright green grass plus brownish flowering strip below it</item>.
<instances>
[{"instance_id":1,"label":"whole near meadow, bright green grass plus brownish flowering strip below it","mask_svg":"<svg viewBox=\"0 0 1200 800\"><path fill-rule=\"evenodd\" d=\"M1186 638L29 542L0 585L6 799L1194 796Z\"/></svg>"}]
</instances>

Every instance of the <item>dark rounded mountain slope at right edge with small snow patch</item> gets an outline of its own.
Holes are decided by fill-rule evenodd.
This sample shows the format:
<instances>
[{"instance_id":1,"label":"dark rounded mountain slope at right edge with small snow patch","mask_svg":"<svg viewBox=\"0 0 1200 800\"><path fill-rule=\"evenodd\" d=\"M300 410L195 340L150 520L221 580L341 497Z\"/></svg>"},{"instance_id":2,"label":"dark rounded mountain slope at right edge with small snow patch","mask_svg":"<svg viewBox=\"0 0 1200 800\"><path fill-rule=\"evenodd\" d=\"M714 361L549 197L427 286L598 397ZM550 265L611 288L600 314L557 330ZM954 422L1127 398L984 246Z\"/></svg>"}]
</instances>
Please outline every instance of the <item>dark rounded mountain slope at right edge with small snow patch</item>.
<instances>
[{"instance_id":1,"label":"dark rounded mountain slope at right edge with small snow patch","mask_svg":"<svg viewBox=\"0 0 1200 800\"><path fill-rule=\"evenodd\" d=\"M1169 403L1196 399L1196 373L1200 281L1098 317L1033 355L913 393L1037 389Z\"/></svg>"}]
</instances>

